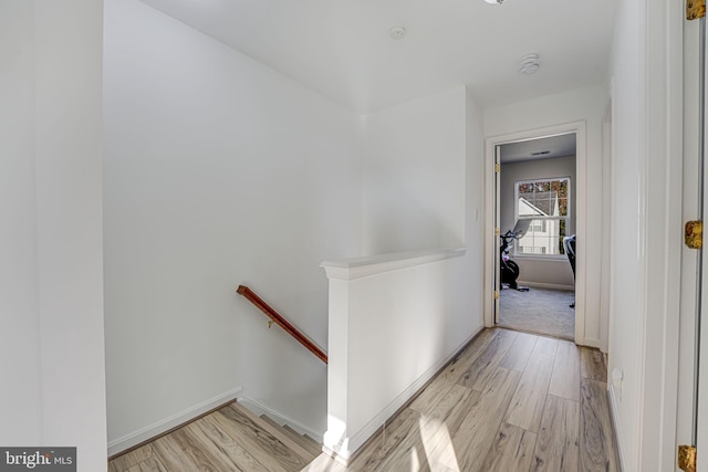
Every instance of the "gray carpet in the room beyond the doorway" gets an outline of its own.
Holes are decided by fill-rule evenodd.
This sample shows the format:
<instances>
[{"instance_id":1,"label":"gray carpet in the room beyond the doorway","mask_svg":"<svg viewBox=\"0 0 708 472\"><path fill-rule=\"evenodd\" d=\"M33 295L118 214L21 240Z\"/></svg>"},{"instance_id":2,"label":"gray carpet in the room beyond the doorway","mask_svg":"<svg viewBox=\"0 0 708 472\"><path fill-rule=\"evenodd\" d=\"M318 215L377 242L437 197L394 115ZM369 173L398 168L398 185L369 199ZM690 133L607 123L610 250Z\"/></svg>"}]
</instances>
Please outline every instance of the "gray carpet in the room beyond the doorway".
<instances>
[{"instance_id":1,"label":"gray carpet in the room beyond the doorway","mask_svg":"<svg viewBox=\"0 0 708 472\"><path fill-rule=\"evenodd\" d=\"M575 293L535 289L503 289L499 296L499 325L566 339L575 337L575 310L569 305Z\"/></svg>"}]
</instances>

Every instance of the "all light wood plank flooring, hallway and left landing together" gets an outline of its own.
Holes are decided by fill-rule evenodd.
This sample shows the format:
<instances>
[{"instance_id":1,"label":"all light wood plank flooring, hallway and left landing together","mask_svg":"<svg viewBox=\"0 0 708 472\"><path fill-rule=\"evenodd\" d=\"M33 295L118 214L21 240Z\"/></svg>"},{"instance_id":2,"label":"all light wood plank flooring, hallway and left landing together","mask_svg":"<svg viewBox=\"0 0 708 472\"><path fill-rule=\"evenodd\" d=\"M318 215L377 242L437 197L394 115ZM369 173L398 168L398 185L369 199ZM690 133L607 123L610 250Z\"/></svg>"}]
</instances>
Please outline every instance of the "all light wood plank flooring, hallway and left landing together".
<instances>
[{"instance_id":1,"label":"all light wood plank flooring, hallway and left landing together","mask_svg":"<svg viewBox=\"0 0 708 472\"><path fill-rule=\"evenodd\" d=\"M348 466L232 403L110 462L148 471L617 471L604 356L482 332Z\"/></svg>"}]
</instances>

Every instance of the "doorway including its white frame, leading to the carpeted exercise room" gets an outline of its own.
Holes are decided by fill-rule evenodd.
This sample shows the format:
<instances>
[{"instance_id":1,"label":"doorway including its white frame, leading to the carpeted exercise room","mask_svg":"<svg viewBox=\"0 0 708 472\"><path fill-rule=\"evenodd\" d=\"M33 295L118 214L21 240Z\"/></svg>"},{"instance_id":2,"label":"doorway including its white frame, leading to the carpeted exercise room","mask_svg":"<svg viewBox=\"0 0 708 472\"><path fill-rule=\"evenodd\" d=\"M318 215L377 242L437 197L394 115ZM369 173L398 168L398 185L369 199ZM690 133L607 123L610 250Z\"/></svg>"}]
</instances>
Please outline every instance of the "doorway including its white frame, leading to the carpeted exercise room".
<instances>
[{"instance_id":1,"label":"doorway including its white frame, leading to the carpeted exercise room","mask_svg":"<svg viewBox=\"0 0 708 472\"><path fill-rule=\"evenodd\" d=\"M565 170L562 170L561 161L564 161L562 165L566 166ZM488 138L487 164L491 169L487 176L486 224L490 235L486 243L486 281L491 289L486 300L487 326L499 324L583 344L585 123L570 123ZM525 178L523 172L527 172ZM562 195L565 191L561 190L563 187L569 190L568 196ZM529 195L532 190L533 195ZM566 203L562 199L569 197L572 206L559 211ZM529 202L531 207L528 206ZM525 208L520 210L520 206ZM554 212L558 214L553 214ZM530 218L531 216L539 218ZM501 235L512 230L520 219L532 220L529 224L531 232L513 242L510 258L516 258L520 269L520 286L528 286L528 292L509 289L500 279ZM559 232L561 227L563 231ZM563 237L572 234L576 235L577 241L574 271L562 242ZM573 300L574 308L570 306ZM558 303L558 311L563 307L565 322L559 325L564 326L556 326L562 327L562 333L558 329L549 331L548 327L553 326L554 322L543 316L549 310L542 305L548 307L553 303ZM537 307L540 310L537 311ZM548 326L540 326L539 319L548 322Z\"/></svg>"}]
</instances>

